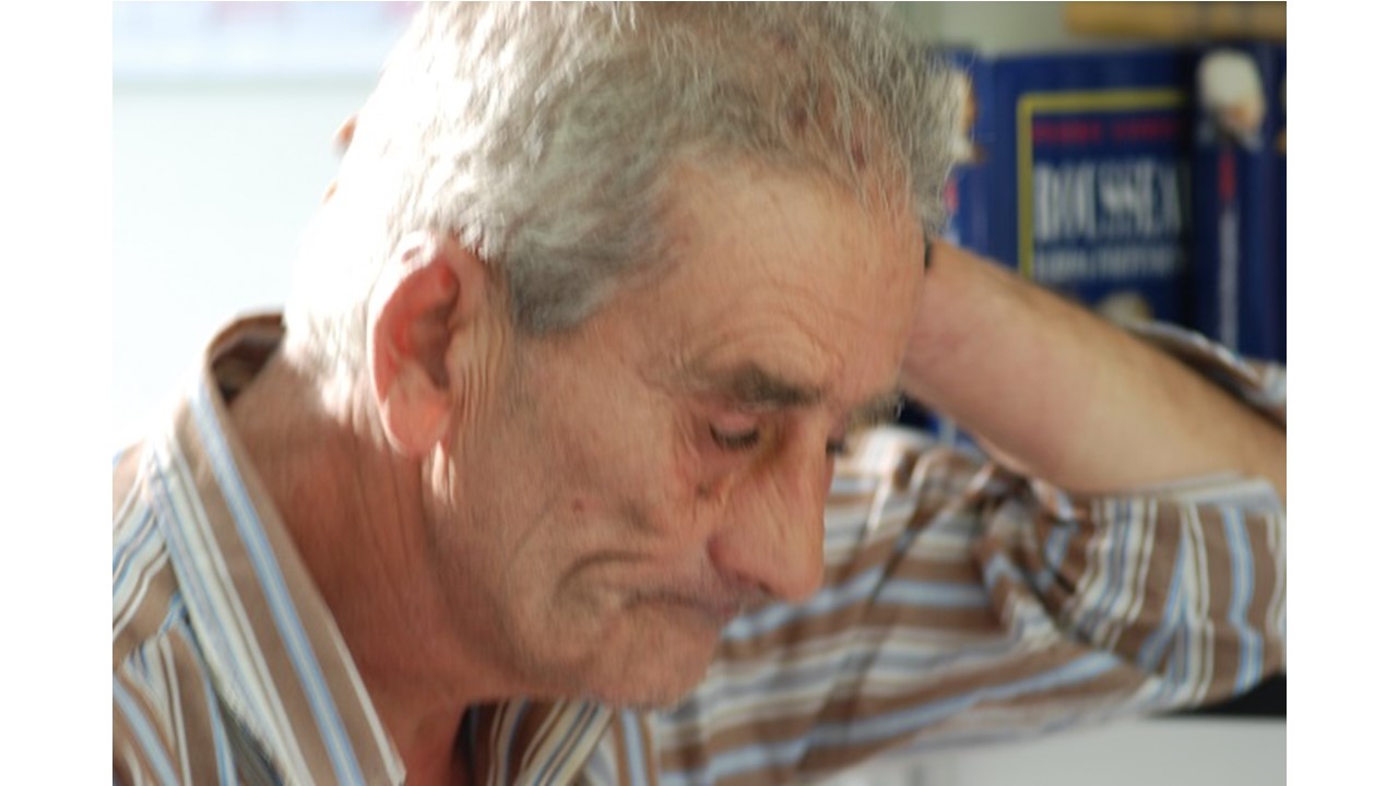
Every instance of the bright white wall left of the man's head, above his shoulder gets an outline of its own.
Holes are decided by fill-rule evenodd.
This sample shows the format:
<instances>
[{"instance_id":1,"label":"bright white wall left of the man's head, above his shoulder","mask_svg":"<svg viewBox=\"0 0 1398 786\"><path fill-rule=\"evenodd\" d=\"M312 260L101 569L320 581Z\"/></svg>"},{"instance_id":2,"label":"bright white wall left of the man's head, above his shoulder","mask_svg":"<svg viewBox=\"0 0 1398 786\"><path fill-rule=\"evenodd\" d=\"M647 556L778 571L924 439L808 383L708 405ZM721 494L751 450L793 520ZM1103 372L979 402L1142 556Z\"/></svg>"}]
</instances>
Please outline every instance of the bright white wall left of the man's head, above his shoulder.
<instances>
[{"instance_id":1,"label":"bright white wall left of the man's head, above his shoulder","mask_svg":"<svg viewBox=\"0 0 1398 786\"><path fill-rule=\"evenodd\" d=\"M372 84L117 84L112 92L113 438L211 331L278 306L334 176L331 136Z\"/></svg>"}]
</instances>

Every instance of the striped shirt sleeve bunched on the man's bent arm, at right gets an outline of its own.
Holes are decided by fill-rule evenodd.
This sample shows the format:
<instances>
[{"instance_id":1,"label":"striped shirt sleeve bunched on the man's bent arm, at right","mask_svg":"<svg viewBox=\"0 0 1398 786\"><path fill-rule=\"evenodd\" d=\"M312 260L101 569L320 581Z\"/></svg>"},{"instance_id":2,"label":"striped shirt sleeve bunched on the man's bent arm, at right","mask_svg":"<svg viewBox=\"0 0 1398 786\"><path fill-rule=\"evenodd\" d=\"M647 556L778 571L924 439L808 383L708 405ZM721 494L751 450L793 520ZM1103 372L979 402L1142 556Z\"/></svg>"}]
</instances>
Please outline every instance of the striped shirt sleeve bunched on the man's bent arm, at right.
<instances>
[{"instance_id":1,"label":"striped shirt sleeve bunched on the man's bent arm, at right","mask_svg":"<svg viewBox=\"0 0 1398 786\"><path fill-rule=\"evenodd\" d=\"M1285 428L1285 369L1145 337ZM1285 529L1257 478L1072 496L879 429L839 467L821 592L735 620L647 744L664 782L769 783L1241 694L1285 669Z\"/></svg>"}]
</instances>

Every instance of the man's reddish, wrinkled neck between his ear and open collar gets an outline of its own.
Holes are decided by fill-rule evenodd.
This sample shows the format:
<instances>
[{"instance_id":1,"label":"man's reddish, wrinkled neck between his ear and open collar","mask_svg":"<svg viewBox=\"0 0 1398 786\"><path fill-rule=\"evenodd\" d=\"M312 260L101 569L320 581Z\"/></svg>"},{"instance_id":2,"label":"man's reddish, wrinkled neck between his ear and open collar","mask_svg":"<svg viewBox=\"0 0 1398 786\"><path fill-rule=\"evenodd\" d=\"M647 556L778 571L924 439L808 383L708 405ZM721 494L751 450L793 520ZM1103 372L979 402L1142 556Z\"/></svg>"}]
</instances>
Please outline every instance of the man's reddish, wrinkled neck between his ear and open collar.
<instances>
[{"instance_id":1,"label":"man's reddish, wrinkled neck between his ear and open collar","mask_svg":"<svg viewBox=\"0 0 1398 786\"><path fill-rule=\"evenodd\" d=\"M233 427L324 597L410 783L453 764L460 717L500 684L461 645L426 562L421 463L396 453L366 407L327 410L280 354L231 404ZM459 762L457 762L459 764ZM424 780L421 776L426 775Z\"/></svg>"}]
</instances>

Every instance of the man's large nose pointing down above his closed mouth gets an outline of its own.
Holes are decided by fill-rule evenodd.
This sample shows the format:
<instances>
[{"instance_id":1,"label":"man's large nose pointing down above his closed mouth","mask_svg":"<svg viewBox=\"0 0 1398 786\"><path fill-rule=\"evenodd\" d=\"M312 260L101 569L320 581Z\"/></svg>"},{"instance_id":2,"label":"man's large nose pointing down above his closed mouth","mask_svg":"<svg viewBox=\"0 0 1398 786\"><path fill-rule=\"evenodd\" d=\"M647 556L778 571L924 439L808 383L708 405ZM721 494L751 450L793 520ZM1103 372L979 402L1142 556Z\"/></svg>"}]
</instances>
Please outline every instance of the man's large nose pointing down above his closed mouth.
<instances>
[{"instance_id":1,"label":"man's large nose pointing down above his closed mouth","mask_svg":"<svg viewBox=\"0 0 1398 786\"><path fill-rule=\"evenodd\" d=\"M823 441L791 446L744 490L741 506L709 541L726 576L788 603L811 597L825 575L825 499L832 463Z\"/></svg>"}]
</instances>

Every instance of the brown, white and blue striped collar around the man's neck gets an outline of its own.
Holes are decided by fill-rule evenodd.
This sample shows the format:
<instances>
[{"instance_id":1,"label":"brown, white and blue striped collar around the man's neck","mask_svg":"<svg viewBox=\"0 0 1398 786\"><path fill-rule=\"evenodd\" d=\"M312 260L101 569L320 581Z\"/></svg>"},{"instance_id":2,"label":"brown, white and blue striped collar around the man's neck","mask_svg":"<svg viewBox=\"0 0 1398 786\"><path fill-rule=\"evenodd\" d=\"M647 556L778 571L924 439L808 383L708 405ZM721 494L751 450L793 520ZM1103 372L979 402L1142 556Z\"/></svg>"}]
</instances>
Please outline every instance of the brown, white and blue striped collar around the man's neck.
<instances>
[{"instance_id":1,"label":"brown, white and blue striped collar around the man's neck","mask_svg":"<svg viewBox=\"0 0 1398 786\"><path fill-rule=\"evenodd\" d=\"M404 765L329 607L231 427L226 401L281 343L278 315L215 337L157 445L171 558L219 696L289 782L401 783ZM611 722L587 701L473 712L478 782L572 782ZM488 751L488 752L487 752Z\"/></svg>"}]
</instances>

